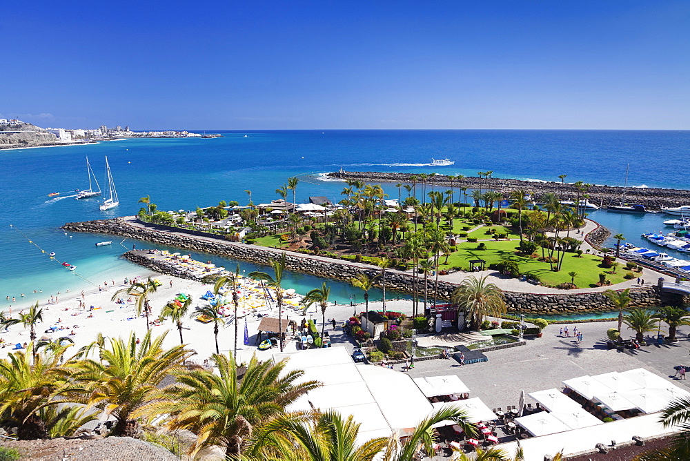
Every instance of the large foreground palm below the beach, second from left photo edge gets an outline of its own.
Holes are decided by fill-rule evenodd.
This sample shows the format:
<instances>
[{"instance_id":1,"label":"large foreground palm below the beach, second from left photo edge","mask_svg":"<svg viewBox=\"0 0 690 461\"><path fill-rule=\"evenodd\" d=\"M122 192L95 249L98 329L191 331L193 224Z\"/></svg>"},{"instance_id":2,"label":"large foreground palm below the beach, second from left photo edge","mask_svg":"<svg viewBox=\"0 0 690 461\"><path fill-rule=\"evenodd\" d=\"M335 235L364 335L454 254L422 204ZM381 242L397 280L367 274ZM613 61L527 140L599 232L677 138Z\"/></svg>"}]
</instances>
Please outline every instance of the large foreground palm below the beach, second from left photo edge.
<instances>
[{"instance_id":1,"label":"large foreground palm below the beach, second from left photo edge","mask_svg":"<svg viewBox=\"0 0 690 461\"><path fill-rule=\"evenodd\" d=\"M166 333L151 339L147 332L139 342L132 332L127 340L108 338L99 348L100 360L84 359L75 366L70 383L61 389L61 401L101 409L115 417L111 435L135 436L137 418L150 414L150 406L177 401L171 386L161 382L181 371L193 355L181 345L163 349L165 337Z\"/></svg>"}]
</instances>

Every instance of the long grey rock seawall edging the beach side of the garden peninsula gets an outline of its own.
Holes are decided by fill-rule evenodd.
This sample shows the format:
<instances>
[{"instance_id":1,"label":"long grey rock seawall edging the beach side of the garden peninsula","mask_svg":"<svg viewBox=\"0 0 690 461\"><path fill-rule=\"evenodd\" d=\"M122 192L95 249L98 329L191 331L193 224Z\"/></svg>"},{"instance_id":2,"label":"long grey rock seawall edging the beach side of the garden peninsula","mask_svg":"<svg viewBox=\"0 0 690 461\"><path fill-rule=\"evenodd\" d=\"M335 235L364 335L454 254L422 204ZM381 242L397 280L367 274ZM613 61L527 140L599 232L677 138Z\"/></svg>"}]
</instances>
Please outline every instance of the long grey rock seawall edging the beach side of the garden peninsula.
<instances>
[{"instance_id":1,"label":"long grey rock seawall edging the beach side of the garden peninsula","mask_svg":"<svg viewBox=\"0 0 690 461\"><path fill-rule=\"evenodd\" d=\"M73 222L63 226L63 229L72 232L103 233L108 235L120 235L133 239L146 240L156 244L167 246L178 246L188 250L212 253L242 261L249 261L258 264L270 264L272 259L278 257L282 251L270 248L262 248L253 245L237 244L235 242L224 242L220 239L200 239L194 236L177 235L175 233L159 230L157 228L139 228L128 224L122 218L104 219L89 222ZM130 261L155 271L175 275L188 279L198 279L188 273L184 273L176 266L167 266L162 262L155 262L147 258L140 251L129 251L125 257ZM363 264L353 265L339 262L337 259L322 260L301 255L299 253L286 252L286 267L290 271L297 271L348 281L359 273L367 275L377 275L381 273L379 268L367 267ZM400 273L397 271L386 272L386 289L412 293L414 283L413 275ZM380 286L380 277L375 281ZM429 297L433 297L436 285L435 280L428 280ZM438 298L449 300L457 284L449 282L438 282ZM601 293L558 293L541 295L535 293L517 293L504 291L506 304L509 312L522 313L587 313L597 311L610 311L611 303ZM655 306L661 303L660 293L655 287L635 288L631 291L633 306Z\"/></svg>"}]
</instances>

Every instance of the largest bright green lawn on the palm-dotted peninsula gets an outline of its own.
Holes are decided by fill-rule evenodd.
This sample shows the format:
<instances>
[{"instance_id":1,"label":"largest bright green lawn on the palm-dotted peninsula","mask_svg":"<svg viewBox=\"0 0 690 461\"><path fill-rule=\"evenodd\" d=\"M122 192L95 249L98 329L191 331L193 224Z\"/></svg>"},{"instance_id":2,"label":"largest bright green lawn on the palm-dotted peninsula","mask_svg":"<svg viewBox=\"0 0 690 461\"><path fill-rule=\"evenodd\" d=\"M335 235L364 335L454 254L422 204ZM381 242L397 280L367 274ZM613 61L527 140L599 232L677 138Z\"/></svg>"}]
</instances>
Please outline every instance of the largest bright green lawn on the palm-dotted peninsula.
<instances>
[{"instance_id":1,"label":"largest bright green lawn on the palm-dotted peninsula","mask_svg":"<svg viewBox=\"0 0 690 461\"><path fill-rule=\"evenodd\" d=\"M486 244L485 251L478 251L478 243L460 244L457 246L457 251L451 253L448 258L448 264L441 264L440 267L460 266L465 270L469 268L470 259L484 259L486 266L489 264L502 262L506 259L517 262L520 265L520 273L537 275L543 284L558 285L571 281L569 272L575 271L578 273L575 276L575 285L578 288L588 288L595 286L599 281L600 273L607 273L607 278L611 280L612 284L622 282L623 275L627 273L624 268L618 267L615 274L611 274L611 269L604 269L600 267L600 258L593 255L582 255L582 257L575 257L574 253L566 253L563 260L562 269L559 272L551 271L549 263L539 262L537 259L518 256L515 254L515 247L519 244L517 240L500 242L484 242ZM555 255L555 253L554 253ZM442 258L445 262L445 258Z\"/></svg>"}]
</instances>

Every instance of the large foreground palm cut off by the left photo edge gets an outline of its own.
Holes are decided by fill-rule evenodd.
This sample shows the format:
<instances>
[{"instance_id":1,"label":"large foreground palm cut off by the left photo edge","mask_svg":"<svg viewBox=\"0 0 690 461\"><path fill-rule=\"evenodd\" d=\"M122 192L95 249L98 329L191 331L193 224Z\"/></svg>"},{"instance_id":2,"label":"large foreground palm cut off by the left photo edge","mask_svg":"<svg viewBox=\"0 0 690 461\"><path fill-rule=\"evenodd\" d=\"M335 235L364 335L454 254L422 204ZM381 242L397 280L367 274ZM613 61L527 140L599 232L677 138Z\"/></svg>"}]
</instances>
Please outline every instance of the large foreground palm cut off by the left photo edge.
<instances>
[{"instance_id":1,"label":"large foreground palm cut off by the left photo edge","mask_svg":"<svg viewBox=\"0 0 690 461\"><path fill-rule=\"evenodd\" d=\"M33 346L33 344L31 345ZM38 412L61 384L58 373L64 349L34 354L9 353L0 360L0 414L17 427L19 440L48 438Z\"/></svg>"}]
</instances>

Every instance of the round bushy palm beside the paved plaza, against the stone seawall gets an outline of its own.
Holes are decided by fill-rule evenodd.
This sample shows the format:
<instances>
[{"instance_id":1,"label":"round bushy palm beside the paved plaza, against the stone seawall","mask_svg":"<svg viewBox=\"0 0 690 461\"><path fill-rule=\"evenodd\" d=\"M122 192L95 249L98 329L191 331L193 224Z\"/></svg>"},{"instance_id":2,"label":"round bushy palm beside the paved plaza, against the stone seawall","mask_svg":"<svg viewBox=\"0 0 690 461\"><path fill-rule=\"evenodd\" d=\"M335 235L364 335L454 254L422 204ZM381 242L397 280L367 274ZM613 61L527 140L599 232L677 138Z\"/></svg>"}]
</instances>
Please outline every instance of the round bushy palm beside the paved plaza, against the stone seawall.
<instances>
[{"instance_id":1,"label":"round bushy palm beside the paved plaza, against the stone seawall","mask_svg":"<svg viewBox=\"0 0 690 461\"><path fill-rule=\"evenodd\" d=\"M488 277L465 277L453 291L453 302L470 317L471 328L479 330L484 317L499 317L506 313L506 301L495 284L487 283Z\"/></svg>"}]
</instances>

